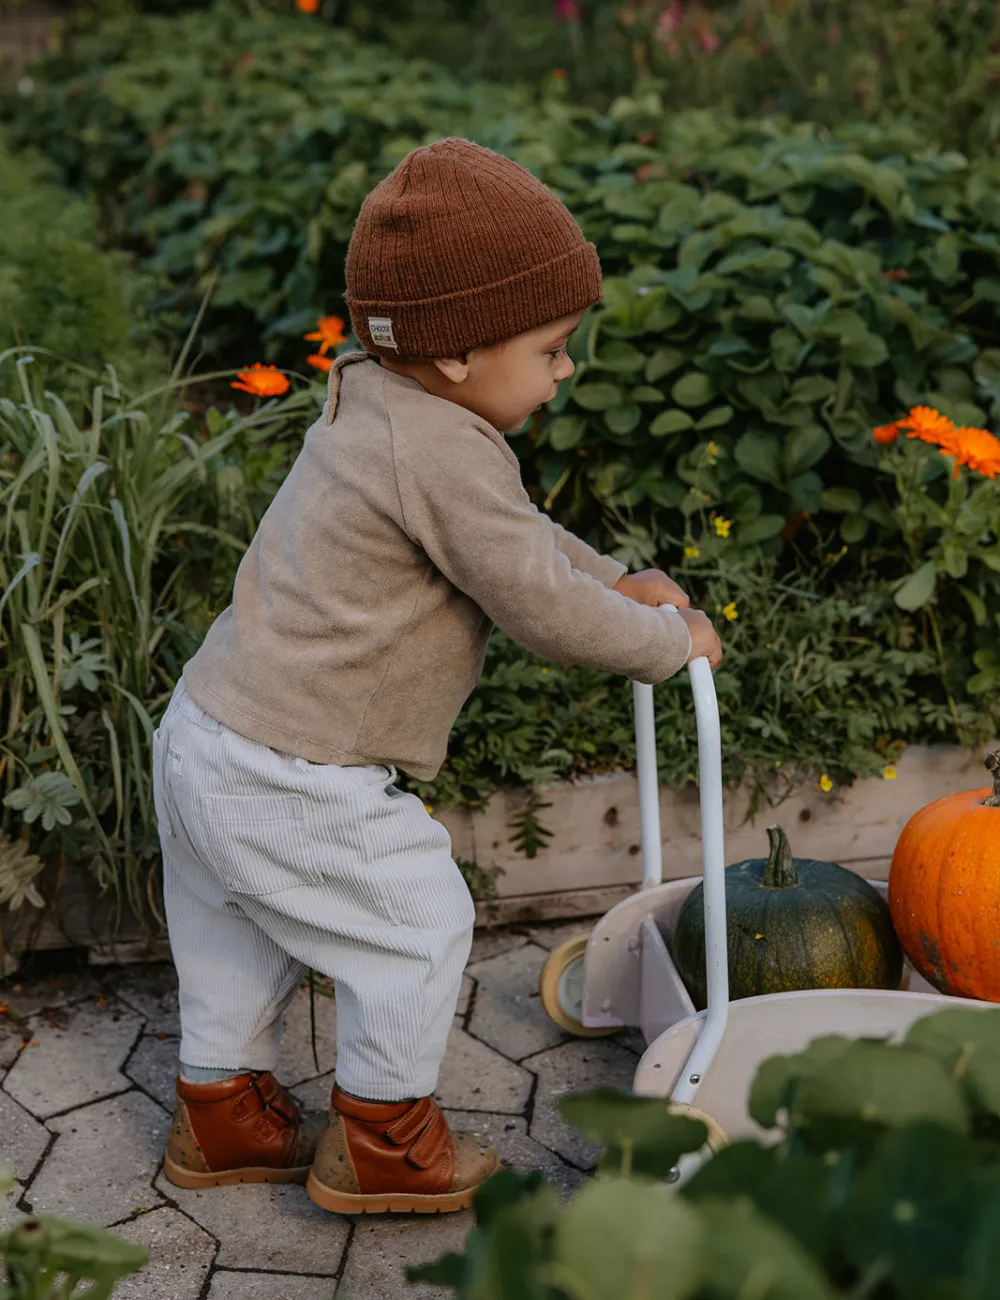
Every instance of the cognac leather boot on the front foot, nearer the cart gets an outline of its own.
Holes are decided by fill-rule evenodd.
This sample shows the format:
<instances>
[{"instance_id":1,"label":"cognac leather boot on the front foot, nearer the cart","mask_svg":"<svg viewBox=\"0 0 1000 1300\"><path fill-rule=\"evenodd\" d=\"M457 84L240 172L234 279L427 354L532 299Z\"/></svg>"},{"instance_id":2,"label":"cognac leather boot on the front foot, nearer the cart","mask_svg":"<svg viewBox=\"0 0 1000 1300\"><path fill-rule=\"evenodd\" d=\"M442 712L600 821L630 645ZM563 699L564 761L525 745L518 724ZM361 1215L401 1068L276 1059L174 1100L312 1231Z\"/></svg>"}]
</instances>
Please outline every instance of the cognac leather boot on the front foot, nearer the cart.
<instances>
[{"instance_id":1,"label":"cognac leather boot on the front foot, nearer the cart","mask_svg":"<svg viewBox=\"0 0 1000 1300\"><path fill-rule=\"evenodd\" d=\"M433 1097L362 1101L334 1086L306 1191L337 1214L445 1214L471 1205L498 1164L490 1145L449 1130Z\"/></svg>"}]
</instances>

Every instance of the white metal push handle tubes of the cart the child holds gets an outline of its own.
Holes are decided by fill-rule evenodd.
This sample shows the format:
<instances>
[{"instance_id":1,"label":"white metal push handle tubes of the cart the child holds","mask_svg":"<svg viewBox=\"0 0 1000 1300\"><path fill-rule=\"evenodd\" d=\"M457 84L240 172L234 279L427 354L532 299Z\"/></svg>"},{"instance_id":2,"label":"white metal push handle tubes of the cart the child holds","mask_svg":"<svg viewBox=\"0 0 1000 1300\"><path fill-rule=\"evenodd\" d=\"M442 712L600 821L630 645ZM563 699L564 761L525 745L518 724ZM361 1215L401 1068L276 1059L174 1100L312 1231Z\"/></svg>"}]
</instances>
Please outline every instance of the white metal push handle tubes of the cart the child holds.
<instances>
[{"instance_id":1,"label":"white metal push handle tubes of the cart the child holds","mask_svg":"<svg viewBox=\"0 0 1000 1300\"><path fill-rule=\"evenodd\" d=\"M711 667L705 658L688 666L698 728L698 789L701 796L701 870L705 892L705 966L709 1005L698 1041L671 1095L691 1102L719 1048L730 1014L730 963L726 936L726 832L722 803L722 729ZM636 770L638 818L642 831L642 887L663 879L659 827L657 725L653 688L633 682L636 710Z\"/></svg>"}]
</instances>

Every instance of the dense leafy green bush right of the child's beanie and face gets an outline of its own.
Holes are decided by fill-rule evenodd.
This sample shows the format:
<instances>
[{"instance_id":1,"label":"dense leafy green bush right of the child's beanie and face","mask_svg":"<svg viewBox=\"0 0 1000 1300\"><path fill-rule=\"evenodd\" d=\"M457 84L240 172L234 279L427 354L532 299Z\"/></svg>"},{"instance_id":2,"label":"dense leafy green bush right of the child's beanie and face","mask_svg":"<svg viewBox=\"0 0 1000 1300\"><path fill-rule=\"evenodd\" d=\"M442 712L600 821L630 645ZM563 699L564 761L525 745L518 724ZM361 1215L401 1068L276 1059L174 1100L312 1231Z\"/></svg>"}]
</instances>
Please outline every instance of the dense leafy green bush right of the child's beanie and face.
<instances>
[{"instance_id":1,"label":"dense leafy green bush right of the child's beanie and face","mask_svg":"<svg viewBox=\"0 0 1000 1300\"><path fill-rule=\"evenodd\" d=\"M854 554L883 549L873 426L919 402L988 417L971 334L995 330L987 170L900 131L662 112L622 101L599 168L559 172L611 274L525 468L629 562L667 537L778 550L827 520Z\"/></svg>"}]
</instances>

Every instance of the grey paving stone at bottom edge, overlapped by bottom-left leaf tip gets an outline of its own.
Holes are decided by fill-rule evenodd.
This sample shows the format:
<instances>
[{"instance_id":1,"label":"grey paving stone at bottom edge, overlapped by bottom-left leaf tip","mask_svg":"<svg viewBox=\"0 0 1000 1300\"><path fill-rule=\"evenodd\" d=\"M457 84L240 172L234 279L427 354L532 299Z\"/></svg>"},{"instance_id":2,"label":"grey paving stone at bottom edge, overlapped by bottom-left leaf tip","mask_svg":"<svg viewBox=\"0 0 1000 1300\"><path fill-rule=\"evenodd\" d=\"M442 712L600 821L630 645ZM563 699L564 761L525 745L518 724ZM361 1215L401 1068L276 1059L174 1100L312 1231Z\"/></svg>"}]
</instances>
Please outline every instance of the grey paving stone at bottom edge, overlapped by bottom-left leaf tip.
<instances>
[{"instance_id":1,"label":"grey paving stone at bottom edge, overlapped by bottom-left leaf tip","mask_svg":"<svg viewBox=\"0 0 1000 1300\"><path fill-rule=\"evenodd\" d=\"M216 1243L196 1223L164 1206L114 1232L150 1252L146 1268L118 1283L114 1300L198 1300Z\"/></svg>"}]
</instances>

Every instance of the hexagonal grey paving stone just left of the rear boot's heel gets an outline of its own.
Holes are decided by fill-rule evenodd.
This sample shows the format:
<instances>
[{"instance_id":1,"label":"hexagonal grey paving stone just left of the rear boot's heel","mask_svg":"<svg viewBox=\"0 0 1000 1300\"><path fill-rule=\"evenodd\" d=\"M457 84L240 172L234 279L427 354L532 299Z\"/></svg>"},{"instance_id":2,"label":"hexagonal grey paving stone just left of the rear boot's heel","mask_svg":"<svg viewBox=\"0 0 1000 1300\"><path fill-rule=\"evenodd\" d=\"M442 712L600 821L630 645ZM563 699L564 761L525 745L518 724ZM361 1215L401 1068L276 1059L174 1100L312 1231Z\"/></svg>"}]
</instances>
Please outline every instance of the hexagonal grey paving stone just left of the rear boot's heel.
<instances>
[{"instance_id":1,"label":"hexagonal grey paving stone just left of the rear boot's heel","mask_svg":"<svg viewBox=\"0 0 1000 1300\"><path fill-rule=\"evenodd\" d=\"M140 1092L49 1119L59 1138L29 1192L31 1209L117 1223L160 1205L151 1183L170 1117Z\"/></svg>"}]
</instances>

